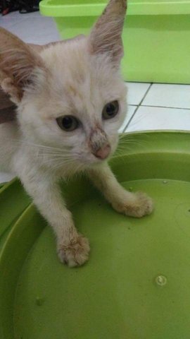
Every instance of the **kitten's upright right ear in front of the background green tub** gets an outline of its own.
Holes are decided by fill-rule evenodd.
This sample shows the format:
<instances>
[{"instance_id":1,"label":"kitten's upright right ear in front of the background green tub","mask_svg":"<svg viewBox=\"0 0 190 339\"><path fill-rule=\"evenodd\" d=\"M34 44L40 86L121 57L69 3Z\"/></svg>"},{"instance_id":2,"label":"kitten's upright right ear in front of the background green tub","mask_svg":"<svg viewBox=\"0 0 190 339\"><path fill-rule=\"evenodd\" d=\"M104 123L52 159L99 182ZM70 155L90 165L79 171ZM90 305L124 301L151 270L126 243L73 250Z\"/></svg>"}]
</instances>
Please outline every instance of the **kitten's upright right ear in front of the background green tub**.
<instances>
[{"instance_id":1,"label":"kitten's upright right ear in front of the background green tub","mask_svg":"<svg viewBox=\"0 0 190 339\"><path fill-rule=\"evenodd\" d=\"M110 0L89 35L91 54L107 53L115 64L123 55L122 27L127 10L127 0Z\"/></svg>"}]
</instances>

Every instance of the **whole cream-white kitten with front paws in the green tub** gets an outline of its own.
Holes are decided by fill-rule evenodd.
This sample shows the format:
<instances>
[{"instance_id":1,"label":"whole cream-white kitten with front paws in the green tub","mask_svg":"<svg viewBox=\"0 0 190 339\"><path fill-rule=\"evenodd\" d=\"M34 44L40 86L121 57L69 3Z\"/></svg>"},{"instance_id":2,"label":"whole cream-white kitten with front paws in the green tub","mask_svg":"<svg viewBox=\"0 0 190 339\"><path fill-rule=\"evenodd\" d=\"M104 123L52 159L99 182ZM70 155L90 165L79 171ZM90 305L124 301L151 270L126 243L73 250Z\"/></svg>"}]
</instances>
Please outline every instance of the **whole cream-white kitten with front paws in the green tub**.
<instances>
[{"instance_id":1,"label":"whole cream-white kitten with front paws in the green tub","mask_svg":"<svg viewBox=\"0 0 190 339\"><path fill-rule=\"evenodd\" d=\"M87 261L89 242L75 228L59 179L85 171L119 213L141 218L153 210L151 198L125 191L108 166L126 112L126 8L125 0L110 0L89 37L45 47L0 30L1 88L18 107L17 119L0 125L1 165L18 175L70 267Z\"/></svg>"}]
</instances>

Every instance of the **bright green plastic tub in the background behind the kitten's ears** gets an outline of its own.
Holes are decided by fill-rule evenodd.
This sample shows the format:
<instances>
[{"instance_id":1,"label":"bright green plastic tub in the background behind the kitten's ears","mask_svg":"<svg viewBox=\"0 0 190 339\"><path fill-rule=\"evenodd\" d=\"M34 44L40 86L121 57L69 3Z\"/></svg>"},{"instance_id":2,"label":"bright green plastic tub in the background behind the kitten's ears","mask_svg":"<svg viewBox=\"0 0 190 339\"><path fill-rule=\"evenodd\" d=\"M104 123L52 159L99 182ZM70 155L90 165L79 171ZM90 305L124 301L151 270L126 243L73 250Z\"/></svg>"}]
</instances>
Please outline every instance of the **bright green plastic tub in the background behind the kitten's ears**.
<instances>
[{"instance_id":1,"label":"bright green plastic tub in the background behind the kitten's ears","mask_svg":"<svg viewBox=\"0 0 190 339\"><path fill-rule=\"evenodd\" d=\"M190 83L190 0L129 0L123 30L125 81ZM106 0L42 0L61 38L89 33Z\"/></svg>"}]
</instances>

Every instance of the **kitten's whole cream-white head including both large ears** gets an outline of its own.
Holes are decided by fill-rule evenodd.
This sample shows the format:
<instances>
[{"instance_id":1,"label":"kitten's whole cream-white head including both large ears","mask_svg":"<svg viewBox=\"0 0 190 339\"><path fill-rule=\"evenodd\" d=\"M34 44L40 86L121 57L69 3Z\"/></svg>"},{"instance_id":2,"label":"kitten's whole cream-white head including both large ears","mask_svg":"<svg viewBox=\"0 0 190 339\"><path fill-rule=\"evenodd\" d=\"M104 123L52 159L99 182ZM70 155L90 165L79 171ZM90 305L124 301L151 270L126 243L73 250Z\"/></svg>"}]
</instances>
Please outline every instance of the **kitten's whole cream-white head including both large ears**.
<instances>
[{"instance_id":1,"label":"kitten's whole cream-white head including both large ears","mask_svg":"<svg viewBox=\"0 0 190 339\"><path fill-rule=\"evenodd\" d=\"M119 71L125 11L125 0L110 0L89 37L36 50L0 30L1 87L18 105L28 143L82 165L114 152L126 112Z\"/></svg>"}]
</instances>

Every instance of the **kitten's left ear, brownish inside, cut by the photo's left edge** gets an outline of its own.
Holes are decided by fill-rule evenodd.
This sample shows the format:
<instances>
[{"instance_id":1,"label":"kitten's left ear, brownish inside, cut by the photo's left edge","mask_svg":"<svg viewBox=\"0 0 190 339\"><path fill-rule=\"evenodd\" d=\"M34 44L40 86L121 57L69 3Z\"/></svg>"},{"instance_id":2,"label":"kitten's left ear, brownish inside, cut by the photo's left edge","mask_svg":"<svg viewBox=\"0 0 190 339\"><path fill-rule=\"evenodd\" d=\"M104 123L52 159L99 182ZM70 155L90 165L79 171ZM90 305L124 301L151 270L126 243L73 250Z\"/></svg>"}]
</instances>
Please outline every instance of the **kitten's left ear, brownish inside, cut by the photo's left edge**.
<instances>
[{"instance_id":1,"label":"kitten's left ear, brownish inside, cut by the photo's left edge","mask_svg":"<svg viewBox=\"0 0 190 339\"><path fill-rule=\"evenodd\" d=\"M0 85L15 103L24 88L34 80L34 69L43 69L43 61L29 45L4 28L0 28Z\"/></svg>"}]
</instances>

